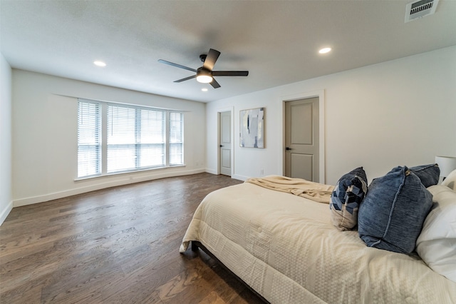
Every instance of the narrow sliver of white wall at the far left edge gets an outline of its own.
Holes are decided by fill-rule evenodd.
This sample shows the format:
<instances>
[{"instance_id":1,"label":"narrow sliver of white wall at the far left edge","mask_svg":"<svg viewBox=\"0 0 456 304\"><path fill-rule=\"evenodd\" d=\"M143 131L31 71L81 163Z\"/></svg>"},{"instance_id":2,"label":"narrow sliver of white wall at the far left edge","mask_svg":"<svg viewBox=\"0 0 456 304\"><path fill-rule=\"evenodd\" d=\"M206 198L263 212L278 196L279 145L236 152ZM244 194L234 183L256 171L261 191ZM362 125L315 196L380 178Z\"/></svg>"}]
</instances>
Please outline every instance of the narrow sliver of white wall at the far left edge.
<instances>
[{"instance_id":1,"label":"narrow sliver of white wall at the far left edge","mask_svg":"<svg viewBox=\"0 0 456 304\"><path fill-rule=\"evenodd\" d=\"M13 208L11 195L11 67L0 54L0 225Z\"/></svg>"}]
</instances>

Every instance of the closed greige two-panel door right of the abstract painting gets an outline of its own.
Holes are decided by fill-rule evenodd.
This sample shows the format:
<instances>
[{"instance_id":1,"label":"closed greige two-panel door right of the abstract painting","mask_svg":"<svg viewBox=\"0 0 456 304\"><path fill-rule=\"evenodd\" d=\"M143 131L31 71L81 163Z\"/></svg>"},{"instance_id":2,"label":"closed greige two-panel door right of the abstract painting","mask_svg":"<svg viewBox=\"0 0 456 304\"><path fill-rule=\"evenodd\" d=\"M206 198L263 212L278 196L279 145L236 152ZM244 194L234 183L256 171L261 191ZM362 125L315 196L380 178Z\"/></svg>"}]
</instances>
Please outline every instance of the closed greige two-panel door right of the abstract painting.
<instances>
[{"instance_id":1,"label":"closed greige two-panel door right of the abstract painting","mask_svg":"<svg viewBox=\"0 0 456 304\"><path fill-rule=\"evenodd\" d=\"M318 97L285 103L285 176L319 181Z\"/></svg>"}]
</instances>

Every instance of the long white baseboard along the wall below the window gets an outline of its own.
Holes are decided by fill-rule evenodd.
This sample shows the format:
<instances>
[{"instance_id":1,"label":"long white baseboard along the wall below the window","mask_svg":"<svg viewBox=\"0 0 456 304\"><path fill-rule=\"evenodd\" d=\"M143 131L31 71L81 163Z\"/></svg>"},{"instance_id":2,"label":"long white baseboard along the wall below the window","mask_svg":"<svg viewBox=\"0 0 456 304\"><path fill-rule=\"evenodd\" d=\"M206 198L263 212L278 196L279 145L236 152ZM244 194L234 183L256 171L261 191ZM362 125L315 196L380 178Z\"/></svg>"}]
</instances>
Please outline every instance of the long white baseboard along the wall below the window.
<instances>
[{"instance_id":1,"label":"long white baseboard along the wall below the window","mask_svg":"<svg viewBox=\"0 0 456 304\"><path fill-rule=\"evenodd\" d=\"M54 193L48 193L43 196L33 196L29 198L21 198L18 200L14 200L12 202L12 207L20 207L31 205L33 203L43 203L46 201L56 200L58 198L66 198L67 196L75 196L76 194L86 193L90 191L96 191L104 188L110 188L115 186L123 186L128 185L130 183L140 183L142 181L153 181L159 178L167 178L167 177L175 177L175 176L187 176L191 174L203 173L207 172L204 169L197 169L197 170L190 170L190 171L174 171L174 172L163 172L154 174L153 176L125 176L125 178L116 180L116 181L100 181L100 183L91 184L88 186L82 186L79 188L73 188L66 191L59 191ZM210 172L209 172L210 173ZM11 209L9 210L11 211ZM8 213L9 213L8 211ZM7 216L8 214L6 214ZM3 216L3 214L2 214ZM5 218L6 218L5 216Z\"/></svg>"}]
</instances>

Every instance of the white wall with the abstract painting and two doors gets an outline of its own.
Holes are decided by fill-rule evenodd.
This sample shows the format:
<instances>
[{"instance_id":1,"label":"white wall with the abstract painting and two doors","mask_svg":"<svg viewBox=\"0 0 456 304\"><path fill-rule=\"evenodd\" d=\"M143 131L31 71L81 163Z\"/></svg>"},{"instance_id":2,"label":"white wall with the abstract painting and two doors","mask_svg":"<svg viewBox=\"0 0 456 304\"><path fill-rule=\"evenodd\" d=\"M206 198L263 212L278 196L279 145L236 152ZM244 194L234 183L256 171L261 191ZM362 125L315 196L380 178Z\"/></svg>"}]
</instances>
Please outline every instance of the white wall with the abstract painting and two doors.
<instances>
[{"instance_id":1,"label":"white wall with the abstract painting and two doors","mask_svg":"<svg viewBox=\"0 0 456 304\"><path fill-rule=\"evenodd\" d=\"M217 111L234 108L234 178L283 174L283 100L324 90L326 183L363 166L456 156L456 46L207 104L207 170L217 172ZM239 110L265 107L266 148L239 148Z\"/></svg>"}]
</instances>

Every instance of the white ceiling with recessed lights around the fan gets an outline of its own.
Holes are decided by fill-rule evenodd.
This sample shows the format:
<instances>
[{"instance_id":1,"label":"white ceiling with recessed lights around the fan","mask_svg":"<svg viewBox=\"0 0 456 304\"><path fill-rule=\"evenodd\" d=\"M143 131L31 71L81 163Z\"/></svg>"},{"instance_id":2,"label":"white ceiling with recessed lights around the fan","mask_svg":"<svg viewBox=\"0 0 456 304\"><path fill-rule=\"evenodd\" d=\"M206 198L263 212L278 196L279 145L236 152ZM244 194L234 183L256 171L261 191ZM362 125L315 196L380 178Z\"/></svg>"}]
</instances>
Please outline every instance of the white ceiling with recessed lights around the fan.
<instances>
[{"instance_id":1,"label":"white ceiling with recessed lights around the fan","mask_svg":"<svg viewBox=\"0 0 456 304\"><path fill-rule=\"evenodd\" d=\"M0 0L1 53L14 69L207 102L456 45L455 0L405 23L408 2ZM209 48L214 70L249 76L174 83L192 72L157 62L197 69Z\"/></svg>"}]
</instances>

